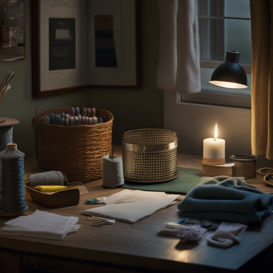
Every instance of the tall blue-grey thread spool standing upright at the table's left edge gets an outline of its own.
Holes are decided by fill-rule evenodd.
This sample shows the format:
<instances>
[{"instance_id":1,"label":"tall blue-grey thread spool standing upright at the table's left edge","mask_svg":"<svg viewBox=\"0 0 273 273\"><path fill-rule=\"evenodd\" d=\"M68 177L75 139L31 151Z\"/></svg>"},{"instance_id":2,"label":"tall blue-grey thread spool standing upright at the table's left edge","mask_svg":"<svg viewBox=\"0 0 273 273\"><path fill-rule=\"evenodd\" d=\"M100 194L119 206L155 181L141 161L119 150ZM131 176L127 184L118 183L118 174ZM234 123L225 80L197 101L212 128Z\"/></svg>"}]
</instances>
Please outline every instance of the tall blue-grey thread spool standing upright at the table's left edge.
<instances>
[{"instance_id":1,"label":"tall blue-grey thread spool standing upright at the table's left edge","mask_svg":"<svg viewBox=\"0 0 273 273\"><path fill-rule=\"evenodd\" d=\"M17 144L9 143L0 153L0 211L22 214L28 207L24 179L25 154L17 150Z\"/></svg>"}]
</instances>

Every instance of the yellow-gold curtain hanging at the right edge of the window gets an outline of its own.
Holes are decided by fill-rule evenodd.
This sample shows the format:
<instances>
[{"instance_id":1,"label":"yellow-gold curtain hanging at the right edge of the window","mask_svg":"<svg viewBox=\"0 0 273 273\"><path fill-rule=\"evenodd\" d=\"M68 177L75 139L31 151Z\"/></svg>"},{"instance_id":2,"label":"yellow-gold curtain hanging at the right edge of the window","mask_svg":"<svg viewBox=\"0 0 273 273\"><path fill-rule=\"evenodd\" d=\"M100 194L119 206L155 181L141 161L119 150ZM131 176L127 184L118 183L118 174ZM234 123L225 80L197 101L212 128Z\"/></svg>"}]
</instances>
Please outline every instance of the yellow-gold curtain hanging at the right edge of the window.
<instances>
[{"instance_id":1,"label":"yellow-gold curtain hanging at the right edge of the window","mask_svg":"<svg viewBox=\"0 0 273 273\"><path fill-rule=\"evenodd\" d=\"M250 0L251 149L273 160L273 0Z\"/></svg>"}]
</instances>

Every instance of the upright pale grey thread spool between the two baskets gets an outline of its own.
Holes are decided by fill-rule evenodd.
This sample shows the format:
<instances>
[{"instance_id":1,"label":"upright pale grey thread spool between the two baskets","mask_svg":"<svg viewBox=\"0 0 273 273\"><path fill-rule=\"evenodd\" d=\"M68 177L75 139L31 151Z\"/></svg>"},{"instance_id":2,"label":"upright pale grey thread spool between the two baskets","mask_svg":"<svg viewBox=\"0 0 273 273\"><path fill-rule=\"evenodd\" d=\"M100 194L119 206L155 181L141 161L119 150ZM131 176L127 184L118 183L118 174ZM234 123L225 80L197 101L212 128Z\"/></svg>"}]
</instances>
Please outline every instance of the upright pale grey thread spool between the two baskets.
<instances>
[{"instance_id":1,"label":"upright pale grey thread spool between the two baskets","mask_svg":"<svg viewBox=\"0 0 273 273\"><path fill-rule=\"evenodd\" d=\"M114 188L124 184L122 159L109 155L102 157L102 185Z\"/></svg>"}]
</instances>

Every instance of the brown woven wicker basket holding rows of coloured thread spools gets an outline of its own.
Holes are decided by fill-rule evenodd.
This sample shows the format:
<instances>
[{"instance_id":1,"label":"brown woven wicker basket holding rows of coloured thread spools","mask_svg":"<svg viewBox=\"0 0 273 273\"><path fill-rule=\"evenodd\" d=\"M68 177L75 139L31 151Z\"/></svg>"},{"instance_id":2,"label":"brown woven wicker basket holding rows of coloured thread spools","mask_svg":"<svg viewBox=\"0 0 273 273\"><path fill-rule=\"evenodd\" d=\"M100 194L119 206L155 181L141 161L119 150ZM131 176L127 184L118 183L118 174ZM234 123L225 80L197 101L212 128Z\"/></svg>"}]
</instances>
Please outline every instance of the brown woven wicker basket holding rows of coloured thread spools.
<instances>
[{"instance_id":1,"label":"brown woven wicker basket holding rows of coloured thread spools","mask_svg":"<svg viewBox=\"0 0 273 273\"><path fill-rule=\"evenodd\" d=\"M54 125L45 123L57 108L36 115L33 120L35 154L38 165L46 171L65 173L69 182L88 182L102 177L102 156L112 152L113 115L96 109L103 123L94 125Z\"/></svg>"}]
</instances>

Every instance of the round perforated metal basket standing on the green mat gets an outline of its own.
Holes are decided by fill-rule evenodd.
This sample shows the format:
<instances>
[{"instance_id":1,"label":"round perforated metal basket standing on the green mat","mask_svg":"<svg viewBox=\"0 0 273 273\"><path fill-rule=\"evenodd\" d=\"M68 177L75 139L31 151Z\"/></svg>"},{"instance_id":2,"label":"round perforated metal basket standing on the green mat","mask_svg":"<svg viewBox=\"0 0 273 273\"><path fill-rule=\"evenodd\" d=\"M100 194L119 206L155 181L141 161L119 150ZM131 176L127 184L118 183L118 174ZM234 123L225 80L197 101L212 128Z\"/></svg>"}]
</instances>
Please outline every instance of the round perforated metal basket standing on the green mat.
<instances>
[{"instance_id":1,"label":"round perforated metal basket standing on the green mat","mask_svg":"<svg viewBox=\"0 0 273 273\"><path fill-rule=\"evenodd\" d=\"M122 136L124 180L163 182L177 177L177 133L140 129Z\"/></svg>"}]
</instances>

